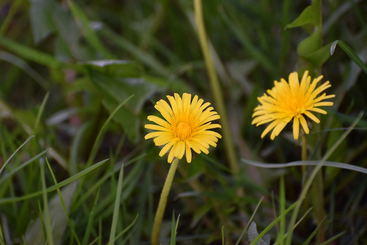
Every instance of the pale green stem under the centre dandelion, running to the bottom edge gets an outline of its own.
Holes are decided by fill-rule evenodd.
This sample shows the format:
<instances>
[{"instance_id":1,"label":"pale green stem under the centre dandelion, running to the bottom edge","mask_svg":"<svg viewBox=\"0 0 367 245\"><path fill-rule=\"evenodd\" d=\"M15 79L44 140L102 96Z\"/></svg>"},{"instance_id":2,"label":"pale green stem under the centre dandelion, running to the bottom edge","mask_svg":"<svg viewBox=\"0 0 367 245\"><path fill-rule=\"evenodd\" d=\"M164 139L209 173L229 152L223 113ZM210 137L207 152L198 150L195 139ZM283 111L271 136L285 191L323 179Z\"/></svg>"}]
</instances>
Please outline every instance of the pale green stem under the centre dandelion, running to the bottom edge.
<instances>
[{"instance_id":1,"label":"pale green stem under the centre dandelion, running to the bottom edge","mask_svg":"<svg viewBox=\"0 0 367 245\"><path fill-rule=\"evenodd\" d=\"M159 199L156 216L154 217L153 231L152 231L152 245L159 245L159 234L162 226L163 214L167 205L168 193L170 192L173 177L175 176L178 166L178 158L171 163L170 170L168 171L166 182L164 182L162 193Z\"/></svg>"}]
</instances>

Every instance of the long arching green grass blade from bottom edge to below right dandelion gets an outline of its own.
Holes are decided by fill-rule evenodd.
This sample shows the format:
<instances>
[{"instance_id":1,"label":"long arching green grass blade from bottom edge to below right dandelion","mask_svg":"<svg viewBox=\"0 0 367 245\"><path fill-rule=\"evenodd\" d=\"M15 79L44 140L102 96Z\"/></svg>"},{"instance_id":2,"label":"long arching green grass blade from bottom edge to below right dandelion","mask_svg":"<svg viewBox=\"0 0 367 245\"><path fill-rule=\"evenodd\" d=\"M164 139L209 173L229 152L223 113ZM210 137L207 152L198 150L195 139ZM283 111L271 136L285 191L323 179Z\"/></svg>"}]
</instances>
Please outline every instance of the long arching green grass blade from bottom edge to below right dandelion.
<instances>
[{"instance_id":1,"label":"long arching green grass blade from bottom edge to below right dandelion","mask_svg":"<svg viewBox=\"0 0 367 245\"><path fill-rule=\"evenodd\" d=\"M353 124L349 127L349 129L347 131L344 132L344 134L342 134L340 136L340 138L337 140L337 142L334 143L334 145L327 151L327 153L325 154L325 156L323 157L323 159L321 159L320 163L315 167L315 169L312 171L308 181L306 182L306 184L304 185L304 188L302 189L301 195L299 195L298 198L298 202L297 202L297 206L295 207L292 217L291 217L291 221L289 223L289 230L288 230L288 237L286 239L286 245L290 245L291 241L292 241L292 234L293 234L293 225L295 223L295 220L297 219L297 215L298 215L298 211L299 208L301 207L301 204L303 202L303 200L306 197L306 193L308 192L308 189L310 188L312 181L315 179L317 172L320 170L320 168L323 166L323 164L325 163L325 161L331 156L331 153L334 152L334 150L340 145L340 143L346 138L346 136L350 133L350 131L352 131L352 129L354 127L356 127L358 121L362 118L363 116L363 112L361 112L359 114L359 116L356 118L356 120L353 122Z\"/></svg>"}]
</instances>

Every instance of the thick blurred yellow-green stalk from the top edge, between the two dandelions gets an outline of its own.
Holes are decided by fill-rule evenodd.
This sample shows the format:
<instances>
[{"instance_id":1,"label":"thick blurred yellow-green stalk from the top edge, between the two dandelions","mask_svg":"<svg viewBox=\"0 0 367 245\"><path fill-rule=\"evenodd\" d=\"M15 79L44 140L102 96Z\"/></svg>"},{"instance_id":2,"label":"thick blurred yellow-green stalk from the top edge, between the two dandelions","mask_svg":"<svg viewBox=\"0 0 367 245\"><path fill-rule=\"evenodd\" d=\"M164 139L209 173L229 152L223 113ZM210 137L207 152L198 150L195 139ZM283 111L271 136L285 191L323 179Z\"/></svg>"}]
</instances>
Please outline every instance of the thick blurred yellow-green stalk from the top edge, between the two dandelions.
<instances>
[{"instance_id":1,"label":"thick blurred yellow-green stalk from the top edge, between the two dandelions","mask_svg":"<svg viewBox=\"0 0 367 245\"><path fill-rule=\"evenodd\" d=\"M224 105L223 95L221 86L219 84L217 72L215 71L213 58L209 51L208 39L204 26L204 17L203 17L203 6L201 5L201 0L193 0L194 1L194 12L195 12L195 20L197 26L197 34L199 36L199 42L201 46L201 51L203 52L205 65L208 71L208 77L213 93L213 97L215 99L216 106L218 108L218 114L221 116L221 125L223 130L223 140L227 153L227 158L229 161L229 166L233 172L233 174L237 174L239 172L237 156L235 152L235 147L232 141L232 132L230 131L228 116L226 113L226 108Z\"/></svg>"}]
</instances>

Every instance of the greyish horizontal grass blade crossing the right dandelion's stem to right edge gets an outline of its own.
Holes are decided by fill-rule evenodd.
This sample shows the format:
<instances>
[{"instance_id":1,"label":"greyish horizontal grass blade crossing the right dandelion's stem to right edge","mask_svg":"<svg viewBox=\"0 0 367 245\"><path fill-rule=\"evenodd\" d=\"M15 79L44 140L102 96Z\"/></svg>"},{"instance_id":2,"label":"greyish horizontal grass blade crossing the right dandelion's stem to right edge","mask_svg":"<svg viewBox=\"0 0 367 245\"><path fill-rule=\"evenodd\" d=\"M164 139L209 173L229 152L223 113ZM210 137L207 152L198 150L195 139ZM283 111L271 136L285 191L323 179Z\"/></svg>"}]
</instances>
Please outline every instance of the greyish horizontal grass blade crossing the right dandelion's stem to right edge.
<instances>
[{"instance_id":1,"label":"greyish horizontal grass blade crossing the right dandelion's stem to right edge","mask_svg":"<svg viewBox=\"0 0 367 245\"><path fill-rule=\"evenodd\" d=\"M247 160L247 159L241 159L242 162L250 164L252 166L256 167L262 167L262 168L285 168L285 167L292 167L292 166L317 166L319 165L320 161L292 161L290 163L260 163L257 161ZM360 173L367 174L367 168L355 166L352 164L347 163L338 163L336 161L325 161L323 163L323 166L327 167L336 167L336 168L344 168L349 170L354 170Z\"/></svg>"}]
</instances>

